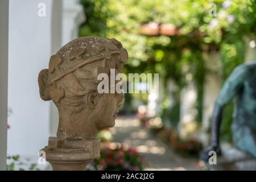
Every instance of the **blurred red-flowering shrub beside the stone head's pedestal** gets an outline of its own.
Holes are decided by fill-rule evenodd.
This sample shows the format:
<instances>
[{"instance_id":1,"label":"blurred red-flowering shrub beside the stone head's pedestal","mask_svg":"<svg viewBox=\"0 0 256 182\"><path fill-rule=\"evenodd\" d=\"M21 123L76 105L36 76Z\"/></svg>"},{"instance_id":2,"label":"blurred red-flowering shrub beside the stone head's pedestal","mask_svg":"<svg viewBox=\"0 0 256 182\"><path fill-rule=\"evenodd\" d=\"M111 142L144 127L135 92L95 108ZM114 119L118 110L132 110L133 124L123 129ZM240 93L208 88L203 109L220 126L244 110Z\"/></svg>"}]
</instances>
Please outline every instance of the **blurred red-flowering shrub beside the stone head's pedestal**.
<instances>
[{"instance_id":1,"label":"blurred red-flowering shrub beside the stone head's pedestal","mask_svg":"<svg viewBox=\"0 0 256 182\"><path fill-rule=\"evenodd\" d=\"M110 148L108 144L101 148L100 158L89 164L90 169L139 171L144 168L144 158L138 154L135 148L125 150L122 146Z\"/></svg>"}]
</instances>

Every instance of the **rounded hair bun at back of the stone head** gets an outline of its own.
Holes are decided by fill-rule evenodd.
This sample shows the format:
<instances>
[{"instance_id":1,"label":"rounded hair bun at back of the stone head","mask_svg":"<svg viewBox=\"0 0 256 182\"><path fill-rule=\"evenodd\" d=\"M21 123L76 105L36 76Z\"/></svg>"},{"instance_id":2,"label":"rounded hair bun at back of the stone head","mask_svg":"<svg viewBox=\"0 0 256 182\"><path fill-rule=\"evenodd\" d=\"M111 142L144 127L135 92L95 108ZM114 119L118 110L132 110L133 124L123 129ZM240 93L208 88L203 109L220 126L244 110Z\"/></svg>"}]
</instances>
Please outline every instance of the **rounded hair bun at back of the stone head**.
<instances>
[{"instance_id":1,"label":"rounded hair bun at back of the stone head","mask_svg":"<svg viewBox=\"0 0 256 182\"><path fill-rule=\"evenodd\" d=\"M44 101L51 100L51 97L49 96L49 89L48 86L48 69L43 69L40 71L38 76L38 85L39 85L39 93L40 97Z\"/></svg>"}]
</instances>

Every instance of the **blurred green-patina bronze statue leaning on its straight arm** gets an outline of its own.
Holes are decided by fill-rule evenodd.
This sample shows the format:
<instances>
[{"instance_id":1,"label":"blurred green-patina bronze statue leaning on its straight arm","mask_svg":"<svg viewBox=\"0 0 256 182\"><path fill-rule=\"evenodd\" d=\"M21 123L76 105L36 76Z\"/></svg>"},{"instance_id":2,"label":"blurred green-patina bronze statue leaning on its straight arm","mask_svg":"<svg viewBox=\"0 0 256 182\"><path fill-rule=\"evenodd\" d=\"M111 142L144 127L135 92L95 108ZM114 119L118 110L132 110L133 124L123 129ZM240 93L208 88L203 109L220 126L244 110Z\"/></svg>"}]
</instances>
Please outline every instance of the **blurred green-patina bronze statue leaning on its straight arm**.
<instances>
[{"instance_id":1,"label":"blurred green-patina bronze statue leaning on its straight arm","mask_svg":"<svg viewBox=\"0 0 256 182\"><path fill-rule=\"evenodd\" d=\"M209 151L220 150L220 125L226 104L235 98L232 133L237 148L256 158L256 61L241 64L228 77L216 100L212 115L211 144L200 154L205 162Z\"/></svg>"}]
</instances>

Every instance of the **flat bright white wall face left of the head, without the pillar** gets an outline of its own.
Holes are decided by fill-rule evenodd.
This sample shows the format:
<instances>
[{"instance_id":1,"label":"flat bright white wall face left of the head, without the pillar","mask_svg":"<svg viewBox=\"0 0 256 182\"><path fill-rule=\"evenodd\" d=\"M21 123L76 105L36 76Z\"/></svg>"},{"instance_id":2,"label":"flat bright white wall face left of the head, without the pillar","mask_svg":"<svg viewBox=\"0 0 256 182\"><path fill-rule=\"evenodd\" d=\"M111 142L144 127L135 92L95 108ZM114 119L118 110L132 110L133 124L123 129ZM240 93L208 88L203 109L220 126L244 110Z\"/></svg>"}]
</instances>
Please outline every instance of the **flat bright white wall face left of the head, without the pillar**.
<instances>
[{"instance_id":1,"label":"flat bright white wall face left of the head, without the pillar","mask_svg":"<svg viewBox=\"0 0 256 182\"><path fill-rule=\"evenodd\" d=\"M46 17L38 4L46 4ZM41 100L38 73L51 56L51 0L10 0L8 154L37 155L49 137L49 102Z\"/></svg>"}]
</instances>

